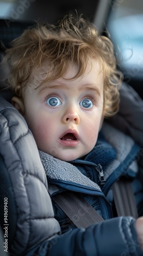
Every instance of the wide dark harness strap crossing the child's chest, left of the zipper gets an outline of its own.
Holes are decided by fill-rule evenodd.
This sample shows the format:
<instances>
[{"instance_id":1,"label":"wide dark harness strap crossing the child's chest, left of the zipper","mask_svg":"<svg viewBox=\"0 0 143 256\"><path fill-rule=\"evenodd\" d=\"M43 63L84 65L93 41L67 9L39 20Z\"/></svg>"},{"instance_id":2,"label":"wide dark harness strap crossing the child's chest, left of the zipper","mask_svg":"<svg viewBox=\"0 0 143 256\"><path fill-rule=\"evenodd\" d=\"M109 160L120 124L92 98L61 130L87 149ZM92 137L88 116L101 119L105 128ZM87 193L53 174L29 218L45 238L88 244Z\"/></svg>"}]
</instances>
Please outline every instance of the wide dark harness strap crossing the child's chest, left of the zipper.
<instances>
[{"instance_id":1,"label":"wide dark harness strap crossing the child's chest, left of the zipper","mask_svg":"<svg viewBox=\"0 0 143 256\"><path fill-rule=\"evenodd\" d=\"M78 228L104 221L79 193L64 191L52 198Z\"/></svg>"}]
</instances>

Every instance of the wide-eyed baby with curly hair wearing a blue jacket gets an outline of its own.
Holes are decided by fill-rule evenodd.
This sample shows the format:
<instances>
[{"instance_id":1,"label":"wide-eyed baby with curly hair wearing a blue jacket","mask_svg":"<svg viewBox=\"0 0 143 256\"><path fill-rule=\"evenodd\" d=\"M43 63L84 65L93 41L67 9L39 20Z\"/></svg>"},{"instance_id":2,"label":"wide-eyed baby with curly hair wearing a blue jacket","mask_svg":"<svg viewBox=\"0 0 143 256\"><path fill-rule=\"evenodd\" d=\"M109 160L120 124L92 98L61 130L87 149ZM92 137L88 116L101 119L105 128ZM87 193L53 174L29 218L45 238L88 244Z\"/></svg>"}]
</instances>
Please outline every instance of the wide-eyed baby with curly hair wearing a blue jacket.
<instances>
[{"instance_id":1,"label":"wide-eyed baby with curly hair wearing a blue jacket","mask_svg":"<svg viewBox=\"0 0 143 256\"><path fill-rule=\"evenodd\" d=\"M122 217L116 223L113 219L117 212L111 187L117 179L134 178L139 216L143 196L142 188L137 189L138 145L103 124L105 117L118 111L122 82L111 41L83 18L69 15L55 26L37 25L23 32L6 51L5 60L10 67L8 83L15 92L12 103L34 135L51 198L64 190L76 191L104 220L110 219L104 232L113 244L108 249L107 241L100 245L103 230L96 224L97 230L101 228L96 237L100 248L92 251L94 255L141 255L143 218L125 217L126 231ZM54 200L53 207L63 234L76 229Z\"/></svg>"}]
</instances>

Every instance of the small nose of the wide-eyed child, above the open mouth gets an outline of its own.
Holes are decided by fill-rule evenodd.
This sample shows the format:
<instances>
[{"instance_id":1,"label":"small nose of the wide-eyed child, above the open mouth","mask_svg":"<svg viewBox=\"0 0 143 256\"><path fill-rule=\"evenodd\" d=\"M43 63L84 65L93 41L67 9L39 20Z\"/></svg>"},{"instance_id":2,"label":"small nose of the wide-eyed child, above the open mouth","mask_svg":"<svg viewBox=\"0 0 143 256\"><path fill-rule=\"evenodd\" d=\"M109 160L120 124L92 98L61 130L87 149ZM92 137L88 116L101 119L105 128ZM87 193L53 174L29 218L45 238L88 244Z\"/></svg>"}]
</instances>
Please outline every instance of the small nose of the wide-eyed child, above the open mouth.
<instances>
[{"instance_id":1,"label":"small nose of the wide-eyed child, above the open mouth","mask_svg":"<svg viewBox=\"0 0 143 256\"><path fill-rule=\"evenodd\" d=\"M69 108L65 114L63 115L62 121L64 123L67 122L74 122L76 124L79 124L80 122L80 117L78 114L78 111L76 110L76 108Z\"/></svg>"}]
</instances>

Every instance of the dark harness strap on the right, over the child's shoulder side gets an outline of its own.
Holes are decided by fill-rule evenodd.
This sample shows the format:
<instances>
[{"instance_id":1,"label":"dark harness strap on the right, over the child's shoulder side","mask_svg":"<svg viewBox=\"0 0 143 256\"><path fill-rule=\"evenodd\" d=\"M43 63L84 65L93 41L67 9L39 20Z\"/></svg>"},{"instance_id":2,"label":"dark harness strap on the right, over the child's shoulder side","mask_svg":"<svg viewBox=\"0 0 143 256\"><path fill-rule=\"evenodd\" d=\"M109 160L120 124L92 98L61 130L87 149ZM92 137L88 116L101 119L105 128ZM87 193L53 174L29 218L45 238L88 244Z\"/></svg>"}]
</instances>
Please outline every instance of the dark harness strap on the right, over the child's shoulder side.
<instances>
[{"instance_id":1,"label":"dark harness strap on the right, over the child's shoulder side","mask_svg":"<svg viewBox=\"0 0 143 256\"><path fill-rule=\"evenodd\" d=\"M118 216L132 216L137 219L137 207L131 181L121 178L112 186Z\"/></svg>"}]
</instances>

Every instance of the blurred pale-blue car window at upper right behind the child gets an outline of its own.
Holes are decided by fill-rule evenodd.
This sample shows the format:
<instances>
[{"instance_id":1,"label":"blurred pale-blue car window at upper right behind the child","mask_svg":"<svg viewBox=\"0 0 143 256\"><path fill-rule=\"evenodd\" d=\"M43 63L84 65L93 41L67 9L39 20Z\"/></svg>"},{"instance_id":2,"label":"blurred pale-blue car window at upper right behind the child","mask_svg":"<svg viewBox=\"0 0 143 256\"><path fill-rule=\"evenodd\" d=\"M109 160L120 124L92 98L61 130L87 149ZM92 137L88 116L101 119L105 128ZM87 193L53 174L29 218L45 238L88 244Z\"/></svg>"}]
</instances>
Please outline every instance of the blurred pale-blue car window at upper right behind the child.
<instances>
[{"instance_id":1,"label":"blurred pale-blue car window at upper right behind the child","mask_svg":"<svg viewBox=\"0 0 143 256\"><path fill-rule=\"evenodd\" d=\"M106 24L121 57L124 79L143 78L143 1L114 1Z\"/></svg>"}]
</instances>

